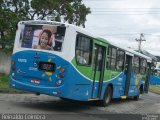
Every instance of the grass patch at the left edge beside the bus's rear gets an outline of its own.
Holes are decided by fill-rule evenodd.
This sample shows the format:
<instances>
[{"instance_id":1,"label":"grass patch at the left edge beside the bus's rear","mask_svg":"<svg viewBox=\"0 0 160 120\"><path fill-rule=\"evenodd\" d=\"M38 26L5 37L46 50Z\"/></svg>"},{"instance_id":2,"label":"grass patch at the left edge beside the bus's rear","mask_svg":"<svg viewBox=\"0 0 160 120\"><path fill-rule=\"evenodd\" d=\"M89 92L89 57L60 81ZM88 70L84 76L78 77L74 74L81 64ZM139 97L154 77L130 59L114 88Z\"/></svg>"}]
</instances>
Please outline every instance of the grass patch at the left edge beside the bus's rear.
<instances>
[{"instance_id":1,"label":"grass patch at the left edge beside the bus's rear","mask_svg":"<svg viewBox=\"0 0 160 120\"><path fill-rule=\"evenodd\" d=\"M9 76L0 75L0 93L20 93L21 91L9 87Z\"/></svg>"}]
</instances>

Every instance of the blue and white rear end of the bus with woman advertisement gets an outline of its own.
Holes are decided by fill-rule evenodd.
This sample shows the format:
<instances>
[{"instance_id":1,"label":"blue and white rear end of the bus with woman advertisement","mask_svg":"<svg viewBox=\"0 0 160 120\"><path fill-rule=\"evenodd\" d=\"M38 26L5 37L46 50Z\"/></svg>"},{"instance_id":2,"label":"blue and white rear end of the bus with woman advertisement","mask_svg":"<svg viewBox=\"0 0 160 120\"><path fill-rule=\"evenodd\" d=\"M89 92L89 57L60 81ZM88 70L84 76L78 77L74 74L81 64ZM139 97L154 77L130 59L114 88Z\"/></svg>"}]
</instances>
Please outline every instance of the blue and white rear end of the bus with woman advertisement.
<instances>
[{"instance_id":1,"label":"blue and white rear end of the bus with woman advertisement","mask_svg":"<svg viewBox=\"0 0 160 120\"><path fill-rule=\"evenodd\" d=\"M61 23L19 22L12 54L10 86L62 96L68 61L63 57L66 27ZM63 92L63 94L62 94Z\"/></svg>"}]
</instances>

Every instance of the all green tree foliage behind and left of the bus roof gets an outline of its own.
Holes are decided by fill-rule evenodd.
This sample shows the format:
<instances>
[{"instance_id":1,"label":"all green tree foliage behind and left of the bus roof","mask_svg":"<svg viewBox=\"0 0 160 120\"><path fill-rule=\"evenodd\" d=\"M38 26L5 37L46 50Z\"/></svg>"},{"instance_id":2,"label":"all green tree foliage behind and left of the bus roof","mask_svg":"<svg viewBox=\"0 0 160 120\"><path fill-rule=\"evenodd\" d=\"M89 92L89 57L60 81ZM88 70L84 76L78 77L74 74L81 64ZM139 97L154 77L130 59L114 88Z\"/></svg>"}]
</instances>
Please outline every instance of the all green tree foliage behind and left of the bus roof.
<instances>
[{"instance_id":1,"label":"all green tree foliage behind and left of the bus roof","mask_svg":"<svg viewBox=\"0 0 160 120\"><path fill-rule=\"evenodd\" d=\"M0 0L0 44L12 50L16 25L22 20L61 21L85 27L90 13L82 0Z\"/></svg>"}]
</instances>

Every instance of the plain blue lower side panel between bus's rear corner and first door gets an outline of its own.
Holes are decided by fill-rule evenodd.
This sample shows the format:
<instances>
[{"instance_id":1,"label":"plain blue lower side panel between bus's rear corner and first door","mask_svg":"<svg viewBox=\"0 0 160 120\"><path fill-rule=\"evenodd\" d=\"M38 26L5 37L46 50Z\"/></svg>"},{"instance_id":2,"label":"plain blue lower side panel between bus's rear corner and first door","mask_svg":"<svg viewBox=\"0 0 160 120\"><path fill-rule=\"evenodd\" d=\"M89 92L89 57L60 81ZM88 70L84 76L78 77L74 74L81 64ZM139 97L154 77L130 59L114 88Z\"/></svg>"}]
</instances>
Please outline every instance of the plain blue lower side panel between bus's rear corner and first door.
<instances>
[{"instance_id":1,"label":"plain blue lower side panel between bus's rear corner and first door","mask_svg":"<svg viewBox=\"0 0 160 120\"><path fill-rule=\"evenodd\" d=\"M67 78L66 98L73 100L88 101L91 97L92 81L80 73L74 65L70 65Z\"/></svg>"}]
</instances>

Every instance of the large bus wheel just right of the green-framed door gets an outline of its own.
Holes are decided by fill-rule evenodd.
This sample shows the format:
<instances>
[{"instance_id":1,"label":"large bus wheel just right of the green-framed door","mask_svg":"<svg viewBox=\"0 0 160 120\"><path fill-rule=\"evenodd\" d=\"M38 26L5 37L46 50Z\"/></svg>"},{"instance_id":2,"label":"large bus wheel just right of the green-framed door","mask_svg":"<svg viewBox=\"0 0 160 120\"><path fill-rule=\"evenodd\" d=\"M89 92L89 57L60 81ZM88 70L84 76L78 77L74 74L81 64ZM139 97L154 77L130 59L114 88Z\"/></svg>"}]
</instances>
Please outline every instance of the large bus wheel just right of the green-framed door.
<instances>
[{"instance_id":1,"label":"large bus wheel just right of the green-framed door","mask_svg":"<svg viewBox=\"0 0 160 120\"><path fill-rule=\"evenodd\" d=\"M110 86L108 86L104 93L103 100L101 101L101 105L104 107L108 106L109 103L111 102L111 99L112 99L112 89Z\"/></svg>"}]
</instances>

